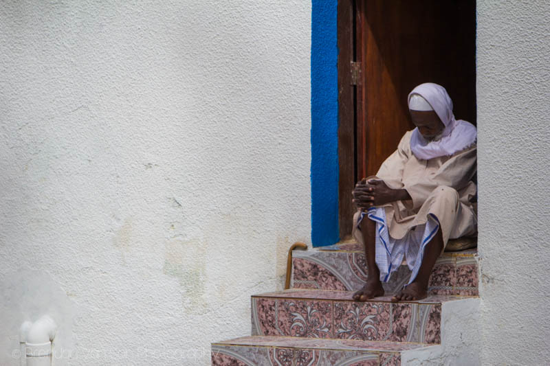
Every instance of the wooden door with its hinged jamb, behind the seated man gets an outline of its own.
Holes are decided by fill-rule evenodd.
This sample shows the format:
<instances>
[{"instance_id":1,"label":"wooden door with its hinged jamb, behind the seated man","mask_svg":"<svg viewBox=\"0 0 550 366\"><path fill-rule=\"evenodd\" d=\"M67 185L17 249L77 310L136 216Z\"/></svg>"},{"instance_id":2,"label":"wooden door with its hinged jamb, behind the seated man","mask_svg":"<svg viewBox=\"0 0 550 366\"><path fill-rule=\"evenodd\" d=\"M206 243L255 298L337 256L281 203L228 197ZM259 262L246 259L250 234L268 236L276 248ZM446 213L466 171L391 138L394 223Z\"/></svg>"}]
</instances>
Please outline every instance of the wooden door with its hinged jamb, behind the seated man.
<instances>
[{"instance_id":1,"label":"wooden door with its hinged jamb, behind the seated man","mask_svg":"<svg viewBox=\"0 0 550 366\"><path fill-rule=\"evenodd\" d=\"M407 106L414 87L443 85L456 118L476 124L475 6L474 0L339 1L340 238L351 233L355 182L375 174L414 128Z\"/></svg>"}]
</instances>

